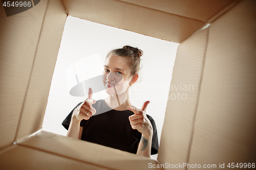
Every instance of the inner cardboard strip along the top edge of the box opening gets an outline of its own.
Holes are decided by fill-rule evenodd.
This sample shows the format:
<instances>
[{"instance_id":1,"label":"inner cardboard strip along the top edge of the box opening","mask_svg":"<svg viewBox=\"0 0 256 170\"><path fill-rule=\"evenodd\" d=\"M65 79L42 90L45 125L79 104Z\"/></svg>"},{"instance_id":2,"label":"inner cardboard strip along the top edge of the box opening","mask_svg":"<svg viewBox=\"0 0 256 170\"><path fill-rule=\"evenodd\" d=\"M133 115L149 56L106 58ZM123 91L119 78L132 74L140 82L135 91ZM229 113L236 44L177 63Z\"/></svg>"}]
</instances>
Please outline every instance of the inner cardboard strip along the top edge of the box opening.
<instances>
[{"instance_id":1,"label":"inner cardboard strip along the top edge of the box opening","mask_svg":"<svg viewBox=\"0 0 256 170\"><path fill-rule=\"evenodd\" d=\"M163 40L182 42L205 22L116 0L62 0L71 16Z\"/></svg>"}]
</instances>

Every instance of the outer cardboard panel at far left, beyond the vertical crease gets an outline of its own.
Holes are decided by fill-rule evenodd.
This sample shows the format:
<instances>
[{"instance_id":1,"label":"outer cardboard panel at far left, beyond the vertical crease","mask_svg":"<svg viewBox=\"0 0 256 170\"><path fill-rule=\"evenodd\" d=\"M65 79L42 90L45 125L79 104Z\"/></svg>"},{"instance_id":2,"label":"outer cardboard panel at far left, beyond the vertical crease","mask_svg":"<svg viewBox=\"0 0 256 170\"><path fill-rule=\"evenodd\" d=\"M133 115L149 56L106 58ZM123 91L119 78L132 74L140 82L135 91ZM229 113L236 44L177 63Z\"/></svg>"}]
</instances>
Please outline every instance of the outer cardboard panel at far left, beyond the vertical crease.
<instances>
[{"instance_id":1,"label":"outer cardboard panel at far left, beyond the vertical crease","mask_svg":"<svg viewBox=\"0 0 256 170\"><path fill-rule=\"evenodd\" d=\"M0 148L15 139L46 8L41 1L6 17L0 6Z\"/></svg>"}]
</instances>

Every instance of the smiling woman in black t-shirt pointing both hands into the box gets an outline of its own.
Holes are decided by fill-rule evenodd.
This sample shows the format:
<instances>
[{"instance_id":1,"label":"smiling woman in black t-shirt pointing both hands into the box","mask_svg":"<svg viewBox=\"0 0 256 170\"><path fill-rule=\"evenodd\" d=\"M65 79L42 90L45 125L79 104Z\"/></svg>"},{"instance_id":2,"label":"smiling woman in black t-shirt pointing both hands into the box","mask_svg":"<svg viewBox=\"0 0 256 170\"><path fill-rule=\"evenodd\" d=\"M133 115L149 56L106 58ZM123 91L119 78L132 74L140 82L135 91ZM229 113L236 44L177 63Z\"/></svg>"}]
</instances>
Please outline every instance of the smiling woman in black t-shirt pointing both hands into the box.
<instances>
[{"instance_id":1,"label":"smiling woman in black t-shirt pointing both hands into the box","mask_svg":"<svg viewBox=\"0 0 256 170\"><path fill-rule=\"evenodd\" d=\"M95 101L92 89L62 122L67 136L151 157L157 154L158 137L154 119L134 107L129 88L138 80L142 51L131 46L112 50L105 59L102 81L108 98Z\"/></svg>"}]
</instances>

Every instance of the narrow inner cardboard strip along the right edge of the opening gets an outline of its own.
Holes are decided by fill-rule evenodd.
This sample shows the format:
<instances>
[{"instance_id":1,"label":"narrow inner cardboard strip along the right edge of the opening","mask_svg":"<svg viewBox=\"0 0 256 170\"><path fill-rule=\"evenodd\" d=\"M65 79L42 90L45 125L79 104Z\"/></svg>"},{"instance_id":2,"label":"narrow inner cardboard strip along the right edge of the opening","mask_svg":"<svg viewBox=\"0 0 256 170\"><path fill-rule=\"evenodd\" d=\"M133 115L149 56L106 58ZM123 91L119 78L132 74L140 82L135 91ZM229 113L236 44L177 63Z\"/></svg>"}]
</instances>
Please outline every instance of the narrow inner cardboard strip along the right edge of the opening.
<instances>
[{"instance_id":1,"label":"narrow inner cardboard strip along the right edge of the opening","mask_svg":"<svg viewBox=\"0 0 256 170\"><path fill-rule=\"evenodd\" d=\"M208 28L189 37L178 47L158 151L161 164L187 162L207 40ZM178 93L180 100L177 99ZM186 100L182 100L185 99L183 94L186 94Z\"/></svg>"}]
</instances>

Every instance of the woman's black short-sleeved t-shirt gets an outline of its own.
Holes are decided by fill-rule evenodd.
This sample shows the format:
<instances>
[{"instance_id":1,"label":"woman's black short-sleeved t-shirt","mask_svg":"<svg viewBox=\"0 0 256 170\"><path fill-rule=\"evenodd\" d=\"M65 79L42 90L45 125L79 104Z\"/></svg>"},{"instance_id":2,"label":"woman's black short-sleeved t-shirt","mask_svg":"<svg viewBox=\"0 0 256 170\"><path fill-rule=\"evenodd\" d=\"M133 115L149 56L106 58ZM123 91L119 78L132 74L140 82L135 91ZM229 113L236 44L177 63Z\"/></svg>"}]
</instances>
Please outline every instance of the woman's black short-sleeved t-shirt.
<instances>
[{"instance_id":1,"label":"woman's black short-sleeved t-shirt","mask_svg":"<svg viewBox=\"0 0 256 170\"><path fill-rule=\"evenodd\" d=\"M81 103L63 120L62 125L67 130L73 111ZM95 108L96 113L88 120L83 119L80 122L80 126L83 127L81 140L136 154L141 133L131 127L129 116L133 115L134 112L113 110L106 105L104 100L97 101L92 107ZM154 119L150 115L146 116L153 127L151 155L154 155L158 152L157 128Z\"/></svg>"}]
</instances>

